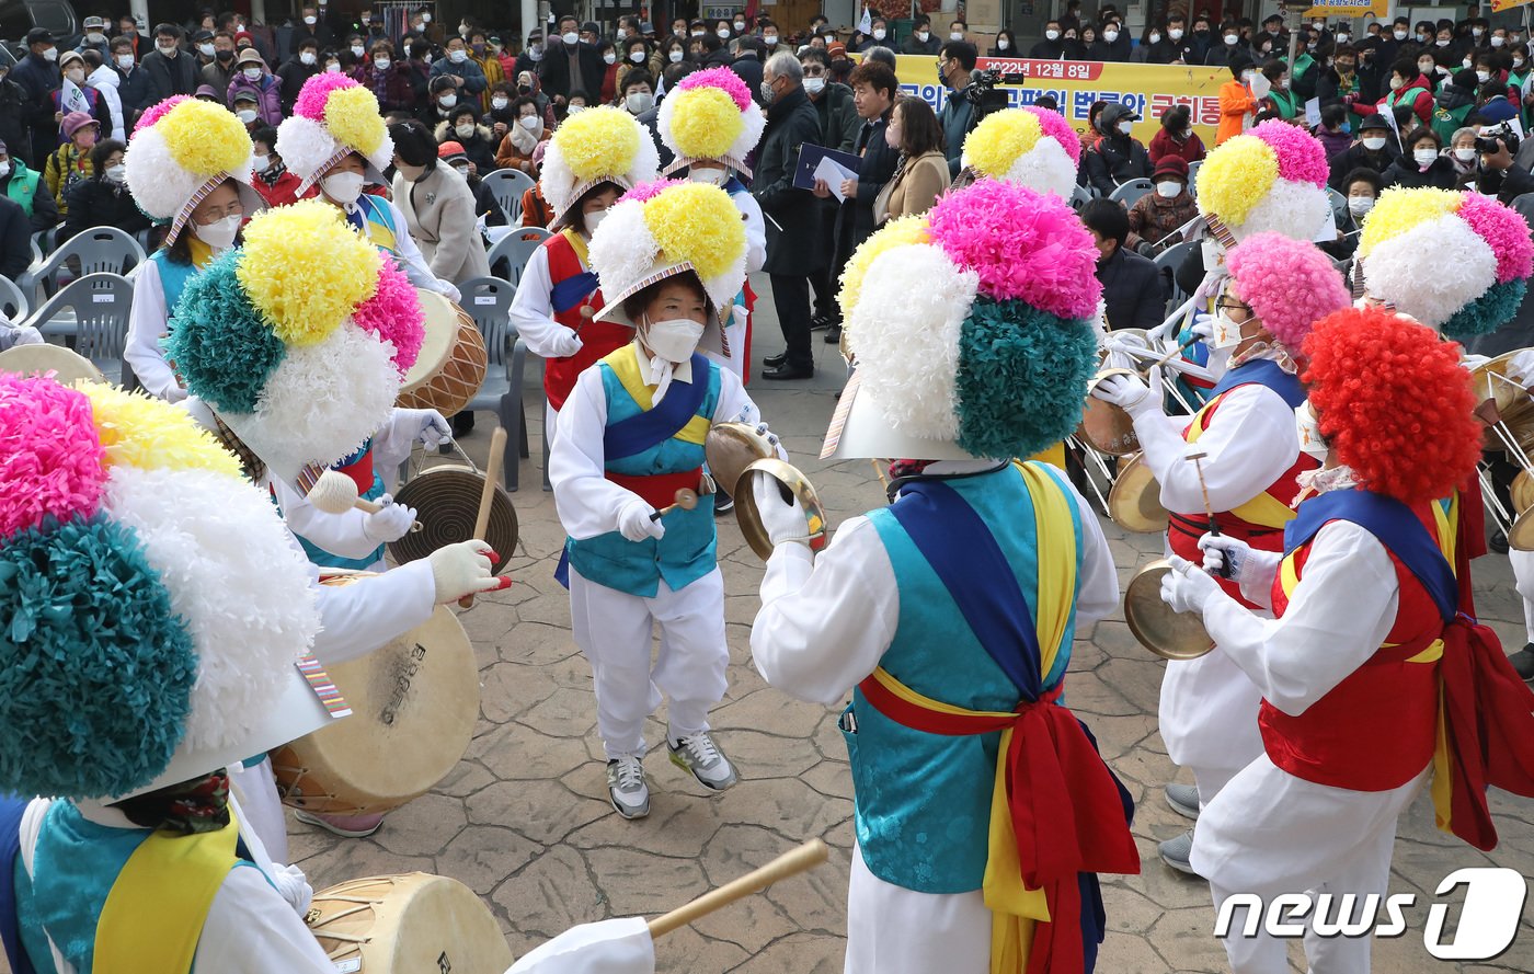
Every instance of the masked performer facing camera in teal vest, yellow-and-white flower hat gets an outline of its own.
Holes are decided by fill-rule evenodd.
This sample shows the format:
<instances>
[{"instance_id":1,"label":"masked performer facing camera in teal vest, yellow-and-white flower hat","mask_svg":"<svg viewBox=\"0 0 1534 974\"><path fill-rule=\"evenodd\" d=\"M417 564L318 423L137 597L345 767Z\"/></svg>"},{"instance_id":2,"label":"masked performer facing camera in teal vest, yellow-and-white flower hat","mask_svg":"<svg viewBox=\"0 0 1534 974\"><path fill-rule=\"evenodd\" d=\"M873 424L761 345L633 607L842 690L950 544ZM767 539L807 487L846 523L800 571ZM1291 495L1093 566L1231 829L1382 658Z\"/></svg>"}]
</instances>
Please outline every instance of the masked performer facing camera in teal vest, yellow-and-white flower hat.
<instances>
[{"instance_id":1,"label":"masked performer facing camera in teal vest, yellow-and-white flower hat","mask_svg":"<svg viewBox=\"0 0 1534 974\"><path fill-rule=\"evenodd\" d=\"M729 664L713 512L686 509L676 494L709 492L703 443L713 423L758 417L735 373L701 354L733 351L723 316L744 275L746 229L716 187L652 183L607 212L591 259L612 298L598 321L632 341L575 379L549 479L569 534L561 571L592 664L607 793L634 819L649 814L643 727L663 693L672 761L713 791L735 784L709 733Z\"/></svg>"}]
</instances>

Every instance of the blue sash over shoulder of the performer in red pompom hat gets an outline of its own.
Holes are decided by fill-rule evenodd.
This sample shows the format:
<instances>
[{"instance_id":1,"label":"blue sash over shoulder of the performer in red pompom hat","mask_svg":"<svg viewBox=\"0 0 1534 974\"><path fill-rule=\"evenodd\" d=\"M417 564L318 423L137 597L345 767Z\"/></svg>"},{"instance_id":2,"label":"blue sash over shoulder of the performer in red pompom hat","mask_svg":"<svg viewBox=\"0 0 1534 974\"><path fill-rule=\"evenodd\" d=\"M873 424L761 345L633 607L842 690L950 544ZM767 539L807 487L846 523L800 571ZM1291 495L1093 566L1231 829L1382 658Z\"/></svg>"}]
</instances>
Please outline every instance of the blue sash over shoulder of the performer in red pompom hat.
<instances>
[{"instance_id":1,"label":"blue sash over shoulder of the performer in red pompom hat","mask_svg":"<svg viewBox=\"0 0 1534 974\"><path fill-rule=\"evenodd\" d=\"M1327 491L1299 505L1295 520L1284 528L1284 554L1316 537L1327 522L1351 522L1379 538L1428 591L1443 621L1454 618L1459 609L1454 569L1411 508L1371 491Z\"/></svg>"}]
</instances>

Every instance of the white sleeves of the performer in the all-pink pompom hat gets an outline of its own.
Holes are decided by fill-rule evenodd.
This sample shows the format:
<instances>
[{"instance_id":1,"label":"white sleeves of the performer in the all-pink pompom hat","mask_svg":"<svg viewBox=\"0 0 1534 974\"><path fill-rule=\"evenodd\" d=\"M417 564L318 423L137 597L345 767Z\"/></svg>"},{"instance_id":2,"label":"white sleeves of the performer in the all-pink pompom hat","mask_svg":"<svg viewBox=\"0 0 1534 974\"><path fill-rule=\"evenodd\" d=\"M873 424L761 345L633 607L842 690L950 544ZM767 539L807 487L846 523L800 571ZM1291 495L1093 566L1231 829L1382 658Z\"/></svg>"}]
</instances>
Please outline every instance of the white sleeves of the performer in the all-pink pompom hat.
<instances>
[{"instance_id":1,"label":"white sleeves of the performer in the all-pink pompom hat","mask_svg":"<svg viewBox=\"0 0 1534 974\"><path fill-rule=\"evenodd\" d=\"M1181 514L1204 509L1198 486L1198 466L1184 460L1190 448L1181 426L1187 419L1167 422L1149 413L1135 422L1146 463L1161 485L1161 506ZM1197 449L1207 452L1200 463L1215 511L1230 511L1252 500L1284 475L1299 459L1295 411L1273 390L1249 383L1220 400L1209 428L1198 437Z\"/></svg>"}]
</instances>

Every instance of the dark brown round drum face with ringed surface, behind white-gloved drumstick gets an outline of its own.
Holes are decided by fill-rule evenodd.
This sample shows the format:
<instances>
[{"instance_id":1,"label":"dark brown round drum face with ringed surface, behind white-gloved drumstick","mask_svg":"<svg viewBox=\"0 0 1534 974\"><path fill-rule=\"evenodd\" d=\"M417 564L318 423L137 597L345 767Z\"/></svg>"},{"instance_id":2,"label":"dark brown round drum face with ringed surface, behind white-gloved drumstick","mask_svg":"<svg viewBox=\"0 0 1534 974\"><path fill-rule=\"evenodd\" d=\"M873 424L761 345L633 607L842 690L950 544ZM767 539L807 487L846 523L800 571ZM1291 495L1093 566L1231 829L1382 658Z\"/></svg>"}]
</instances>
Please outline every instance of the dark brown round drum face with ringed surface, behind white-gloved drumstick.
<instances>
[{"instance_id":1,"label":"dark brown round drum face with ringed surface, behind white-gloved drumstick","mask_svg":"<svg viewBox=\"0 0 1534 974\"><path fill-rule=\"evenodd\" d=\"M394 503L416 509L420 531L411 531L388 543L388 554L400 564L425 558L443 545L468 541L474 537L485 475L468 466L433 466L408 480L394 492ZM511 497L495 485L489 508L489 529L485 543L499 555L492 572L500 572L517 549L517 511Z\"/></svg>"}]
</instances>

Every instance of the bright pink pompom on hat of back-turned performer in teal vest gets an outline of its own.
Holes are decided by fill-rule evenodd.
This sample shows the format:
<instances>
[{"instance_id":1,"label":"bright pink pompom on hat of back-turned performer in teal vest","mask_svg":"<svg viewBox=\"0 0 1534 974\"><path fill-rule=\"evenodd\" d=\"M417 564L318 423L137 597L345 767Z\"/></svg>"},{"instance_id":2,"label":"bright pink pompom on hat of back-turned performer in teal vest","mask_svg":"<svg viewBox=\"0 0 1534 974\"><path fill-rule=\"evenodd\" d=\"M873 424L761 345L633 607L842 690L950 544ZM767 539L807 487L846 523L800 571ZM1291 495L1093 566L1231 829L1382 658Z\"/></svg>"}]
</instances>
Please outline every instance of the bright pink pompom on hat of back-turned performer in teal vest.
<instances>
[{"instance_id":1,"label":"bright pink pompom on hat of back-turned performer in teal vest","mask_svg":"<svg viewBox=\"0 0 1534 974\"><path fill-rule=\"evenodd\" d=\"M1103 293L1097 247L1075 212L1054 193L980 179L940 198L927 221L931 241L960 268L980 276L982 293L1058 318L1097 314Z\"/></svg>"}]
</instances>

